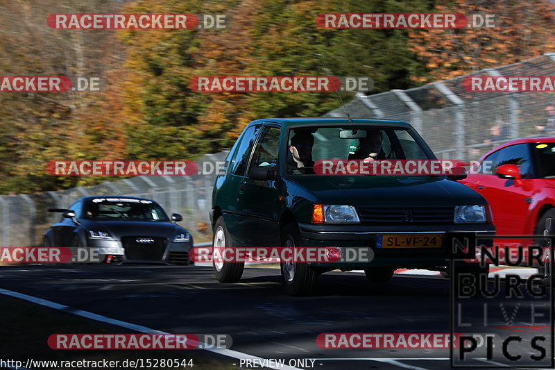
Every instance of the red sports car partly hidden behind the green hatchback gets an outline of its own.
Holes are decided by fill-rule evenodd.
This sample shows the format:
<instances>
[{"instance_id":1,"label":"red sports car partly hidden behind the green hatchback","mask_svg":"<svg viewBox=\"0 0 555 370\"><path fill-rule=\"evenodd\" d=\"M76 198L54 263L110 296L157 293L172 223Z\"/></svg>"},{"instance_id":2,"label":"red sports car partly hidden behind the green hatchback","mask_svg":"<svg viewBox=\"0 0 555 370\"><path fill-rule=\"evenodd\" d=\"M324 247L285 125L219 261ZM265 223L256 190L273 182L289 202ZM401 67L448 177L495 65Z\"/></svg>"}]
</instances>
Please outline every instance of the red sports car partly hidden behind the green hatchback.
<instances>
[{"instance_id":1,"label":"red sports car partly hidden behind the green hatchback","mask_svg":"<svg viewBox=\"0 0 555 370\"><path fill-rule=\"evenodd\" d=\"M554 235L555 137L498 146L481 157L461 183L487 199L497 235ZM522 239L495 241L500 246L524 243ZM540 244L545 246L545 239ZM547 276L549 269L539 269Z\"/></svg>"}]
</instances>

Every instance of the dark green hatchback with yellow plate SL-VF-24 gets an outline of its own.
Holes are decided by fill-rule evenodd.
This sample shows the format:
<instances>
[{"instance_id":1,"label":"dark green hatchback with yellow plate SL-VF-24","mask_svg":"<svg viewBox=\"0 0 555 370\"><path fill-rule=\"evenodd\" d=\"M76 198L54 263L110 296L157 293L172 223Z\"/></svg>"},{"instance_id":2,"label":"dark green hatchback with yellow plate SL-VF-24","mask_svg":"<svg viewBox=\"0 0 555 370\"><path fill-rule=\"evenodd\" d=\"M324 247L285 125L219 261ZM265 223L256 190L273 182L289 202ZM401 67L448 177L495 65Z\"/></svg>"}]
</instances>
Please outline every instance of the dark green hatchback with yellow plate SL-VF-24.
<instances>
[{"instance_id":1,"label":"dark green hatchback with yellow plate SL-VF-24","mask_svg":"<svg viewBox=\"0 0 555 370\"><path fill-rule=\"evenodd\" d=\"M370 260L281 262L287 292L309 294L319 274L364 270L387 281L395 269L446 271L445 235L495 233L486 200L461 176L322 174L322 160L436 160L410 124L386 119L259 119L250 122L214 184L216 251L230 247L368 249ZM223 283L242 262L213 259ZM468 264L476 272L477 264ZM485 267L487 269L487 267Z\"/></svg>"}]
</instances>

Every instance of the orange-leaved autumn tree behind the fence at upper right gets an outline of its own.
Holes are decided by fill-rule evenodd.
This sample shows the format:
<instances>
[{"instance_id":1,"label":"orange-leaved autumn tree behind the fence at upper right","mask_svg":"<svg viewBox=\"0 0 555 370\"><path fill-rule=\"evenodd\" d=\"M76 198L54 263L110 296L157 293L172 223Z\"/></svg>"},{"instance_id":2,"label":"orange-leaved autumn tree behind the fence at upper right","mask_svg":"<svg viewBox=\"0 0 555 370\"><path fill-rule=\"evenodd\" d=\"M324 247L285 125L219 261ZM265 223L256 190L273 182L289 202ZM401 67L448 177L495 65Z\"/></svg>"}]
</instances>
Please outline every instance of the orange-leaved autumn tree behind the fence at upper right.
<instances>
[{"instance_id":1,"label":"orange-leaved autumn tree behind the fence at upper right","mask_svg":"<svg viewBox=\"0 0 555 370\"><path fill-rule=\"evenodd\" d=\"M555 5L544 0L454 0L436 12L493 15L493 28L427 29L410 33L410 50L429 72L420 83L526 60L555 49Z\"/></svg>"}]
</instances>

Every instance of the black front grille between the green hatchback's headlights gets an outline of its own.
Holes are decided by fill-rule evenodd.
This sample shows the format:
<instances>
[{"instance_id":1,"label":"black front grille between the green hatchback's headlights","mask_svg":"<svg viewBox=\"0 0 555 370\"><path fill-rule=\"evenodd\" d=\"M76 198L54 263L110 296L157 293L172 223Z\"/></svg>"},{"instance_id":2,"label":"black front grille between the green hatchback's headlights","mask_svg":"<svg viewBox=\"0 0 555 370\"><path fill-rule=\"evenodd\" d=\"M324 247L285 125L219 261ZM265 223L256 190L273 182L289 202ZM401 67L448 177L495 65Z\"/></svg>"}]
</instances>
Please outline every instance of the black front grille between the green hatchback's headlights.
<instances>
[{"instance_id":1,"label":"black front grille between the green hatchback's headlights","mask_svg":"<svg viewBox=\"0 0 555 370\"><path fill-rule=\"evenodd\" d=\"M365 224L410 225L453 224L454 207L357 207L360 221Z\"/></svg>"}]
</instances>

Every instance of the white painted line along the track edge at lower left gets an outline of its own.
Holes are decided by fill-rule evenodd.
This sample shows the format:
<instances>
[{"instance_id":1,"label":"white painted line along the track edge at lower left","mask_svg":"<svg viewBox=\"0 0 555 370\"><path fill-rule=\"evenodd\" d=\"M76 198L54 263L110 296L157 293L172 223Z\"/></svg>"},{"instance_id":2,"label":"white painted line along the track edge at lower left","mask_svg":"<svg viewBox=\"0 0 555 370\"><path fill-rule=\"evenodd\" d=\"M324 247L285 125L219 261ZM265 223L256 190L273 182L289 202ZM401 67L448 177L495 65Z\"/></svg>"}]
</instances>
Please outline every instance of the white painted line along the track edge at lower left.
<instances>
[{"instance_id":1,"label":"white painted line along the track edge at lower left","mask_svg":"<svg viewBox=\"0 0 555 370\"><path fill-rule=\"evenodd\" d=\"M63 312L67 312L67 313L70 313L70 314L76 314L77 316L85 317L87 319L91 319L91 320L95 320L95 321L101 321L103 323L109 323L110 325L120 326L121 328L127 328L127 329L130 329L130 330L137 331L139 333L170 334L170 333L166 333L166 332L161 331L161 330L155 330L155 329L147 328L146 326L137 325L135 323L128 323L126 321L111 319L110 317L105 317L101 314L95 314L93 312L78 310L77 308L72 308L72 307L69 307L67 305L61 305L60 303L47 301L46 299L37 298L35 296L29 296L27 294L23 294L23 293L19 293L19 292L13 292L12 290L8 290L8 289L0 288L0 294L4 294L6 296L12 296L14 298L23 299L24 301L37 303L38 305L44 305L46 307L53 308L55 310L60 310L60 311L63 311ZM259 358L257 356L248 355L247 353L242 353L242 352L239 352L239 351L233 351L233 350L228 349L228 348L216 347L216 348L204 348L204 349L205 349L205 351L214 352L214 353L217 353L219 355L224 355L224 356L228 356L230 358L235 358L237 360L241 360L241 359L251 359L251 360L256 359L256 360L259 360L259 361L264 360L264 359ZM302 370L302 369L298 369L297 367L290 367L290 366L287 366L287 365L280 366L280 367L270 367L270 369Z\"/></svg>"}]
</instances>

